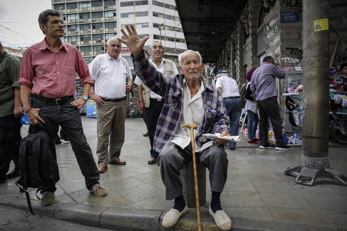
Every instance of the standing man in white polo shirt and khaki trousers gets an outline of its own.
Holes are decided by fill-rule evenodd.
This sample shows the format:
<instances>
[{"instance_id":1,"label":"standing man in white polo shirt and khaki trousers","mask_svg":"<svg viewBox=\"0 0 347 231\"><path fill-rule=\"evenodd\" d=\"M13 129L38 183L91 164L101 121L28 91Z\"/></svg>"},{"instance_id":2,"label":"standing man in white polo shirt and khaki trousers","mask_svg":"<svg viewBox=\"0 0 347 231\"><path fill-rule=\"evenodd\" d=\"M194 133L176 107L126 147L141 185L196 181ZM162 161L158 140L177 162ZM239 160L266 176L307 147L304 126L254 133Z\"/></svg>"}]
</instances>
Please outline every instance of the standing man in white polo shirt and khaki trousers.
<instances>
[{"instance_id":1,"label":"standing man in white polo shirt and khaki trousers","mask_svg":"<svg viewBox=\"0 0 347 231\"><path fill-rule=\"evenodd\" d=\"M107 53L99 54L89 65L95 81L89 95L98 111L96 155L98 171L105 172L109 163L126 164L119 159L125 139L126 92L133 83L128 62L121 57L122 44L117 38L107 41Z\"/></svg>"}]
</instances>

